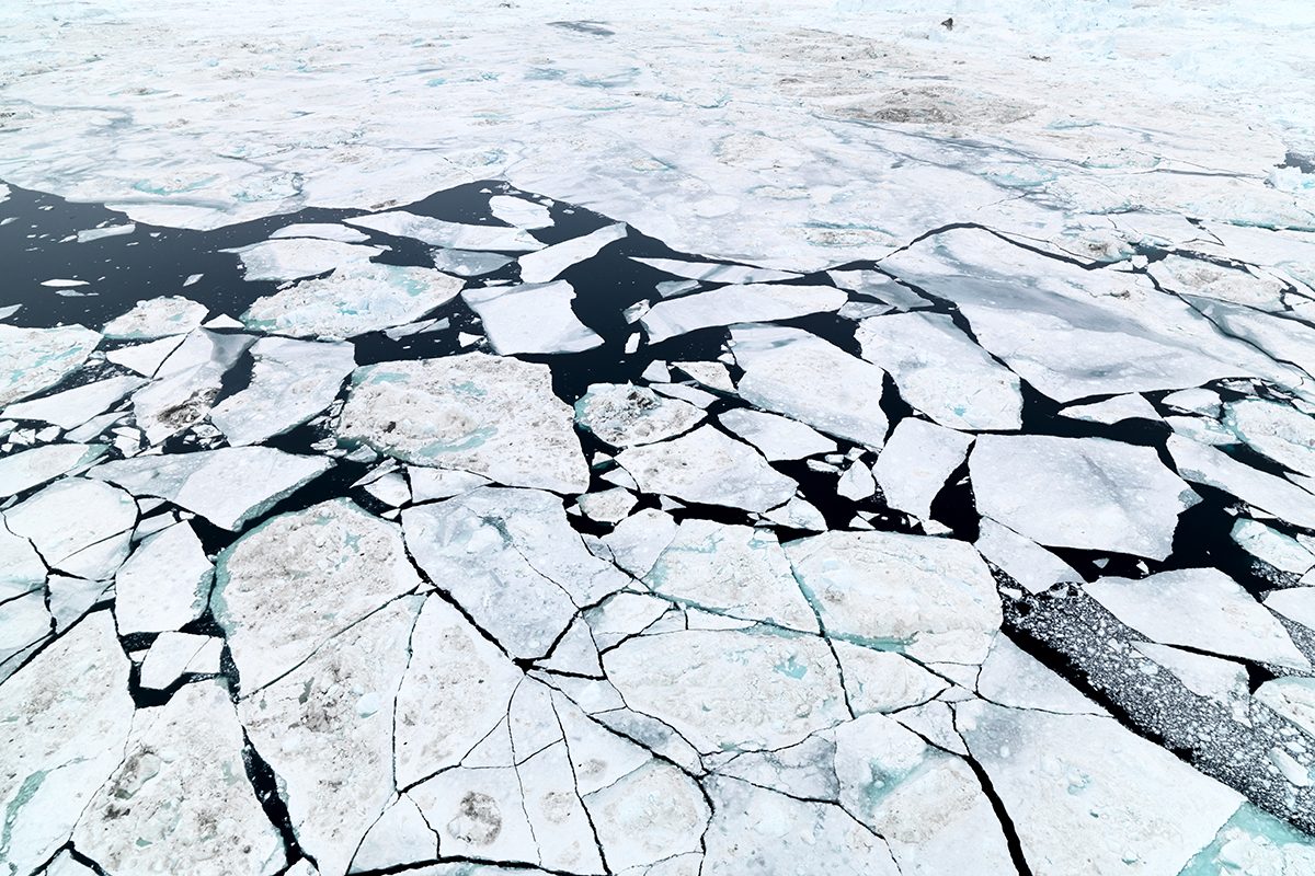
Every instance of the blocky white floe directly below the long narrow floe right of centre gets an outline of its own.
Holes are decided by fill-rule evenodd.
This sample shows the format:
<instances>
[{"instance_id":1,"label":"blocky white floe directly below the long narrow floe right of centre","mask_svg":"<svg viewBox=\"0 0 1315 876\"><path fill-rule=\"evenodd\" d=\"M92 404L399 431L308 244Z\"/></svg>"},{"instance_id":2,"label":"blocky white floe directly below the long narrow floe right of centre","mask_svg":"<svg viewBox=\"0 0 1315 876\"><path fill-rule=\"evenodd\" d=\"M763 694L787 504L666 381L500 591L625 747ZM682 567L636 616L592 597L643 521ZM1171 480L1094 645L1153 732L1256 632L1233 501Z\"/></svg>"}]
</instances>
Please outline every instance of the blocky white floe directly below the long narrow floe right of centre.
<instances>
[{"instance_id":1,"label":"blocky white floe directly below the long narrow floe right of centre","mask_svg":"<svg viewBox=\"0 0 1315 876\"><path fill-rule=\"evenodd\" d=\"M885 372L798 328L736 326L731 349L744 369L744 401L822 432L877 449L886 437Z\"/></svg>"}]
</instances>

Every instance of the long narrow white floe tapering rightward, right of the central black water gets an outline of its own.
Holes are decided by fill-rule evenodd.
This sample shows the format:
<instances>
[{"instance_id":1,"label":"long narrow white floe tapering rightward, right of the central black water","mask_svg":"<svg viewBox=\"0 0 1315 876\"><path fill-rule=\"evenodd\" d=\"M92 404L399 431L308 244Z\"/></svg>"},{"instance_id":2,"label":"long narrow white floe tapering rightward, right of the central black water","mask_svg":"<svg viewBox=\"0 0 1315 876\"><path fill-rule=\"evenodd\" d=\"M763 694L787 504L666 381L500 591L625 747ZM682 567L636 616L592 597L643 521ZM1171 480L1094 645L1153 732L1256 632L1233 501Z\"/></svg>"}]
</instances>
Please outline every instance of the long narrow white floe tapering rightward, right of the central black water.
<instances>
[{"instance_id":1,"label":"long narrow white floe tapering rightward, right of the central black water","mask_svg":"<svg viewBox=\"0 0 1315 876\"><path fill-rule=\"evenodd\" d=\"M639 324L656 344L700 328L826 313L844 302L844 293L831 286L731 285L659 301Z\"/></svg>"}]
</instances>

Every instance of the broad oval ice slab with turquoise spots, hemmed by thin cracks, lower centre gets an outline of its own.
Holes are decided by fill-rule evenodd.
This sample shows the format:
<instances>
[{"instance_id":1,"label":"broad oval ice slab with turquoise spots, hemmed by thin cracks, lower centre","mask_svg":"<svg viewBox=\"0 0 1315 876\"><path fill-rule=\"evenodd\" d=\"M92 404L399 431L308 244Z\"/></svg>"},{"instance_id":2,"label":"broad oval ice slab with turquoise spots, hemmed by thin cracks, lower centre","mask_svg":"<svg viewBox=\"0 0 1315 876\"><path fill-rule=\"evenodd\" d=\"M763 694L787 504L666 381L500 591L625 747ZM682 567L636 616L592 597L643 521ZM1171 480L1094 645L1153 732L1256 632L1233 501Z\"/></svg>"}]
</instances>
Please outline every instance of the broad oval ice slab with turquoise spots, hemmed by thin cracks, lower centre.
<instances>
[{"instance_id":1,"label":"broad oval ice slab with turquoise spots, hemmed by thin cracks, lower centre","mask_svg":"<svg viewBox=\"0 0 1315 876\"><path fill-rule=\"evenodd\" d=\"M773 628L680 630L604 654L626 703L704 753L778 749L848 718L826 642Z\"/></svg>"}]
</instances>

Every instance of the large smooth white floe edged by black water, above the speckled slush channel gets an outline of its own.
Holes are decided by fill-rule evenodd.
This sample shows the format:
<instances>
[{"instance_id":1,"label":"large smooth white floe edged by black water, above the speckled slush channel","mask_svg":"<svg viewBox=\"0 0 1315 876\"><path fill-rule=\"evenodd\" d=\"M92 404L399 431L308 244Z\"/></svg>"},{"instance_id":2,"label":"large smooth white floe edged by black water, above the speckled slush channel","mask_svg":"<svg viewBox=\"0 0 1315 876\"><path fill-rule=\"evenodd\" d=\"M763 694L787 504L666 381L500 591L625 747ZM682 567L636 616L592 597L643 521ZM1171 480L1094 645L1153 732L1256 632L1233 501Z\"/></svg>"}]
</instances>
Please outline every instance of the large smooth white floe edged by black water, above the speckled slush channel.
<instances>
[{"instance_id":1,"label":"large smooth white floe edged by black water, above the speckled slush channel","mask_svg":"<svg viewBox=\"0 0 1315 876\"><path fill-rule=\"evenodd\" d=\"M1198 500L1155 449L1105 439L982 435L968 469L982 515L1055 548L1164 559Z\"/></svg>"}]
</instances>

